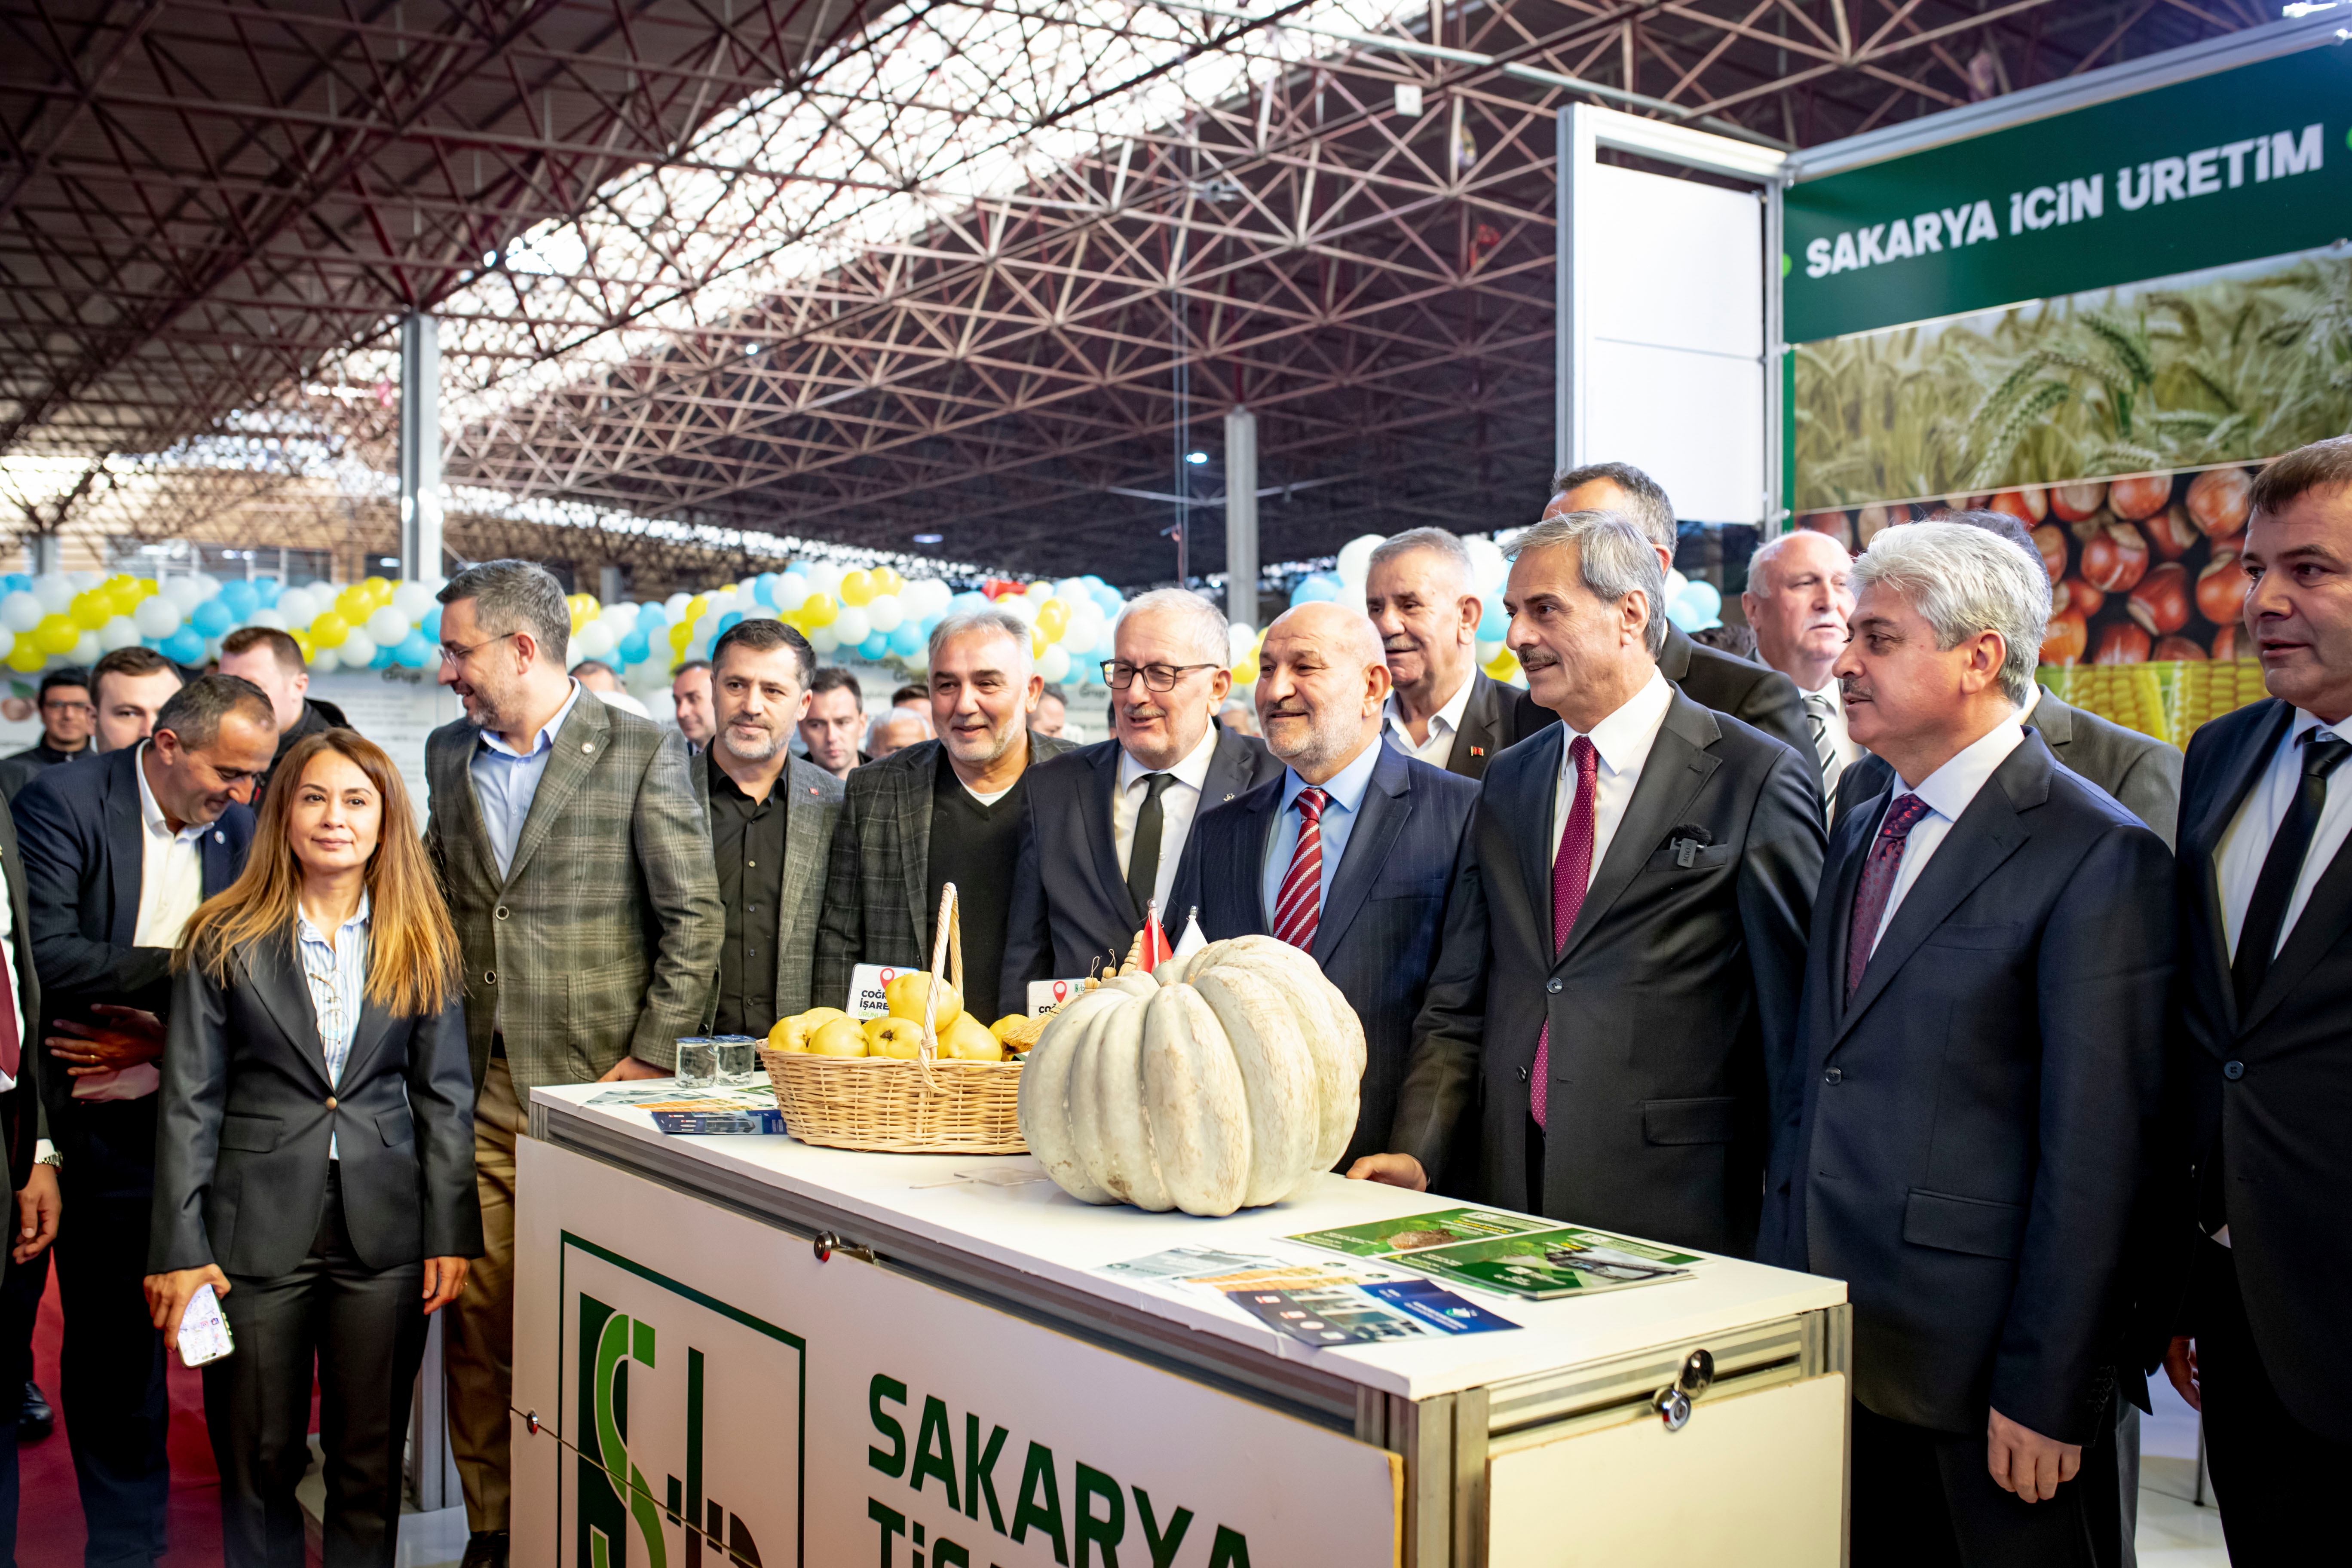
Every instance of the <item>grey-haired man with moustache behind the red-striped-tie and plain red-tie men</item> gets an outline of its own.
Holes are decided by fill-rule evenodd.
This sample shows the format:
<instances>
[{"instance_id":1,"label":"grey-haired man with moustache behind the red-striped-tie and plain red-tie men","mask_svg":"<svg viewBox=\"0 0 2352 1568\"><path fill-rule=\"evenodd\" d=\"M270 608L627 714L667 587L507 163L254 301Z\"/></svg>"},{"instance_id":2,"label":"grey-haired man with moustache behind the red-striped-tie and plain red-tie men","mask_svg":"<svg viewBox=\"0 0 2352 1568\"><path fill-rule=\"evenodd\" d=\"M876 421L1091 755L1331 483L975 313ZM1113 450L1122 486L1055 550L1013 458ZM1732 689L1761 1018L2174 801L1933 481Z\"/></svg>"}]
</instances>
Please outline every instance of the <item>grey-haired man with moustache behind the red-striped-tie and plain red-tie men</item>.
<instances>
[{"instance_id":1,"label":"grey-haired man with moustache behind the red-striped-tie and plain red-tie men","mask_svg":"<svg viewBox=\"0 0 2352 1568\"><path fill-rule=\"evenodd\" d=\"M1519 738L1519 693L1477 668L1486 607L1470 581L1470 552L1444 529L1406 529L1381 541L1364 574L1364 614L1388 654L1388 741L1435 769L1479 778L1486 759Z\"/></svg>"}]
</instances>

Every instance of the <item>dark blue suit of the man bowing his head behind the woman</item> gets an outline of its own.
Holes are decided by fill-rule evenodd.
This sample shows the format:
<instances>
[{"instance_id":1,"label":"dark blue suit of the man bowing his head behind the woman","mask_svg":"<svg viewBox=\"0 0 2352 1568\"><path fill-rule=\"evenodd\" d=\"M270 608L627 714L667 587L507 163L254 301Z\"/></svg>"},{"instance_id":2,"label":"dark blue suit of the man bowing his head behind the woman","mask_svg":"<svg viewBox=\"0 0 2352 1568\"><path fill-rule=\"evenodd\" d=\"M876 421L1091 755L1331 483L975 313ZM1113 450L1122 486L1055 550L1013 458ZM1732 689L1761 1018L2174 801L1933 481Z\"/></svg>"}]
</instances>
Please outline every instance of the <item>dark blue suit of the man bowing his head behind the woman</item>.
<instances>
[{"instance_id":1,"label":"dark blue suit of the man bowing his head behind the woman","mask_svg":"<svg viewBox=\"0 0 2352 1568\"><path fill-rule=\"evenodd\" d=\"M132 945L146 832L139 752L45 769L12 802L47 1018L89 1020L96 1001L169 1018L172 952ZM207 898L238 879L252 839L254 813L245 806L228 806L205 832ZM28 1051L40 1048L40 1034ZM165 1547L172 1483L162 1333L141 1291L158 1098L75 1100L73 1079L54 1060L42 1065L40 1086L49 1138L66 1161L56 1288L66 1309L66 1427L89 1521L85 1561L146 1568Z\"/></svg>"}]
</instances>

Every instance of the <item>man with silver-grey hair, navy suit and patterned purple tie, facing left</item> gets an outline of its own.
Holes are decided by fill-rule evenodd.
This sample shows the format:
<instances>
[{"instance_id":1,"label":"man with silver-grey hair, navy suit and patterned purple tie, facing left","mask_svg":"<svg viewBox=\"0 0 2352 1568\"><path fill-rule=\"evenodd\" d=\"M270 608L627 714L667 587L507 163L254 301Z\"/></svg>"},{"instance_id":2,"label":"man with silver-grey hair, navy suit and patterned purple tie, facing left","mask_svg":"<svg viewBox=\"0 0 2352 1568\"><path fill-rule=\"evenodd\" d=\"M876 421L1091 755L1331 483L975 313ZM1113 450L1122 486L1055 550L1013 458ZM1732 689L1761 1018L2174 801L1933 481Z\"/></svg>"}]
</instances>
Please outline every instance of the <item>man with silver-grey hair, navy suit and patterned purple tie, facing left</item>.
<instances>
[{"instance_id":1,"label":"man with silver-grey hair, navy suit and patterned purple tie, facing left","mask_svg":"<svg viewBox=\"0 0 2352 1568\"><path fill-rule=\"evenodd\" d=\"M2171 853L2018 724L2039 562L1917 522L1853 588L1835 668L1891 785L1830 844L1759 1258L1849 1281L1853 1561L2105 1561Z\"/></svg>"}]
</instances>

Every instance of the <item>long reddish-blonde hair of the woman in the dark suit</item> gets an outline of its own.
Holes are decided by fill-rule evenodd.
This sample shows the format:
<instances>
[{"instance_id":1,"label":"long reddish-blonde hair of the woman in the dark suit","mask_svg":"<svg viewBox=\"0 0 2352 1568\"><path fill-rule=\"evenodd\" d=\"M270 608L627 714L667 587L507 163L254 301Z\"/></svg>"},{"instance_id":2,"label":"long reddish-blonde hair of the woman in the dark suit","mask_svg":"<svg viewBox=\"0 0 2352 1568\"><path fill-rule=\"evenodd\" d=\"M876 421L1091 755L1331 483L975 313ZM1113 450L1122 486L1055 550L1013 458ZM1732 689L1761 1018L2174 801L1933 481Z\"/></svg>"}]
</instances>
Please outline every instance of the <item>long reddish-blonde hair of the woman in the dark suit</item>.
<instances>
[{"instance_id":1,"label":"long reddish-blonde hair of the woman in the dark suit","mask_svg":"<svg viewBox=\"0 0 2352 1568\"><path fill-rule=\"evenodd\" d=\"M235 954L254 943L294 936L301 860L287 842L287 818L310 762L325 752L367 773L383 802L376 853L367 858L369 940L367 999L388 1013L421 1018L442 1011L459 983L456 926L426 863L407 785L383 748L348 729L303 736L270 773L270 792L254 825L245 875L214 893L188 922L174 969L202 966L214 983L230 983Z\"/></svg>"}]
</instances>

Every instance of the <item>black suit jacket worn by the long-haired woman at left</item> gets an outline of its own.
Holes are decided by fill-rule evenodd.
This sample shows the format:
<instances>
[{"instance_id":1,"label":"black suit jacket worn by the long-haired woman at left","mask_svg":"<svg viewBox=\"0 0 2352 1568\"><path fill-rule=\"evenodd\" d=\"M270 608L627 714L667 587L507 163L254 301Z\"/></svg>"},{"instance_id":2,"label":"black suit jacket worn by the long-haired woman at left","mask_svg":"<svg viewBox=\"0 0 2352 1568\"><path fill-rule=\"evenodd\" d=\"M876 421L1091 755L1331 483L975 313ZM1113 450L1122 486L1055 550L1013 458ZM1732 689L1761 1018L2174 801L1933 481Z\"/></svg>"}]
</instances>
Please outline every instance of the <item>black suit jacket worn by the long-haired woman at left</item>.
<instances>
[{"instance_id":1,"label":"black suit jacket worn by the long-haired woman at left","mask_svg":"<svg viewBox=\"0 0 2352 1568\"><path fill-rule=\"evenodd\" d=\"M172 987L160 1093L151 1274L207 1262L289 1274L318 1237L329 1138L367 1267L482 1255L473 1063L454 990L421 1018L367 1001L329 1081L292 933L240 950L228 985L191 964Z\"/></svg>"}]
</instances>

